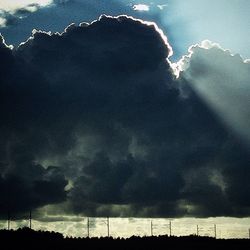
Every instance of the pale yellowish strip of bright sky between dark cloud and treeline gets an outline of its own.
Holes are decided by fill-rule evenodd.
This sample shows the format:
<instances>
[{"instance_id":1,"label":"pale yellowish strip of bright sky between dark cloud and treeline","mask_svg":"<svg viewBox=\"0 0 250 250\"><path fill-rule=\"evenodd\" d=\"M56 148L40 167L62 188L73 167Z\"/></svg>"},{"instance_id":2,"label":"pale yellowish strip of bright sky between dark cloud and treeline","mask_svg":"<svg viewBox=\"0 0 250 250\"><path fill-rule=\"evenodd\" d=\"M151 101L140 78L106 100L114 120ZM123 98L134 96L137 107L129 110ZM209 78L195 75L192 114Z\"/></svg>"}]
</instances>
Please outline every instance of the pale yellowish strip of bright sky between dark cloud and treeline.
<instances>
[{"instance_id":1,"label":"pale yellowish strip of bright sky between dark cloud and treeline","mask_svg":"<svg viewBox=\"0 0 250 250\"><path fill-rule=\"evenodd\" d=\"M107 236L106 218L89 218L90 237ZM112 237L150 236L151 223L154 235L169 235L167 218L110 218L110 235ZM87 218L81 216L46 216L32 221L34 230L48 230L62 233L65 236L87 237ZM211 217L171 219L172 235L187 236L196 234L197 225L201 229L200 236L214 237L214 225L217 238L248 238L250 218ZM29 226L28 219L11 221L11 229ZM6 221L0 221L0 228L6 229Z\"/></svg>"}]
</instances>

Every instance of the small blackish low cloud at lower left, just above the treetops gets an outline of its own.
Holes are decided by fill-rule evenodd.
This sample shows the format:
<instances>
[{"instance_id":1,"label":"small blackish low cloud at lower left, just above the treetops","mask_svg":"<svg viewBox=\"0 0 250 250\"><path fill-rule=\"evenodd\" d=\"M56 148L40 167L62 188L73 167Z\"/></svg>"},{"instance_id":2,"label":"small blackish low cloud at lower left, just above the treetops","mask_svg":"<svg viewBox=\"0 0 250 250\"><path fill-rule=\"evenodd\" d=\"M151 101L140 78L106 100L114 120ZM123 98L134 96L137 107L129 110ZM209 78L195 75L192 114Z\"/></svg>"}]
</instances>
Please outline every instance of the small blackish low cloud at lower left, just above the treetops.
<instances>
[{"instance_id":1,"label":"small blackish low cloud at lower left, just above the treetops","mask_svg":"<svg viewBox=\"0 0 250 250\"><path fill-rule=\"evenodd\" d=\"M18 164L14 171L0 179L1 218L6 218L7 211L15 218L27 215L28 211L37 207L66 199L64 187L67 181L58 168L45 170L40 165L28 162L24 166ZM23 171L21 175L20 171Z\"/></svg>"}]
</instances>

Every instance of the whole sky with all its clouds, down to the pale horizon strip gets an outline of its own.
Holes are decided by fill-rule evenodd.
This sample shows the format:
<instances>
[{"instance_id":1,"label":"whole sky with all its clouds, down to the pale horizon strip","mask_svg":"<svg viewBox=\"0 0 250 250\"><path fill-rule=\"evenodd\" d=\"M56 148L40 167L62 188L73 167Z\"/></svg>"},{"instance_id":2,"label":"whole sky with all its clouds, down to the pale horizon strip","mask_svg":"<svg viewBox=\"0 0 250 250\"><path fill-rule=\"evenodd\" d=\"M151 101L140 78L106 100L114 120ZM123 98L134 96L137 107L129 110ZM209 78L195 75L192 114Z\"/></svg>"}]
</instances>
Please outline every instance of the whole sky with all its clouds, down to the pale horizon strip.
<instances>
[{"instance_id":1,"label":"whole sky with all its clouds, down to the pale horizon strip","mask_svg":"<svg viewBox=\"0 0 250 250\"><path fill-rule=\"evenodd\" d=\"M1 219L248 218L249 8L0 1Z\"/></svg>"}]
</instances>

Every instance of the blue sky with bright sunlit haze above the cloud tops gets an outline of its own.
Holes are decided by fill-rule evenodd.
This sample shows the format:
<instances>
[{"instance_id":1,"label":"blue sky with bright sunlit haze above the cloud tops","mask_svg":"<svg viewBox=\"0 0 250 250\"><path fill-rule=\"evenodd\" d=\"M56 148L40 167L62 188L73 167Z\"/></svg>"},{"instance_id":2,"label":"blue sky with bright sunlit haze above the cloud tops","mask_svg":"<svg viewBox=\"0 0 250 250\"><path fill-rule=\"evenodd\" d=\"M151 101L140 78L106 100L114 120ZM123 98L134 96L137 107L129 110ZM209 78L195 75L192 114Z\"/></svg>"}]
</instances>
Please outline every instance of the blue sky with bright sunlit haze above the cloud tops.
<instances>
[{"instance_id":1,"label":"blue sky with bright sunlit haze above the cloud tops","mask_svg":"<svg viewBox=\"0 0 250 250\"><path fill-rule=\"evenodd\" d=\"M62 32L75 22L92 22L101 14L132 15L154 21L167 34L179 60L193 44L205 39L250 57L248 0L10 0L0 1L0 32L18 46L31 31Z\"/></svg>"}]
</instances>

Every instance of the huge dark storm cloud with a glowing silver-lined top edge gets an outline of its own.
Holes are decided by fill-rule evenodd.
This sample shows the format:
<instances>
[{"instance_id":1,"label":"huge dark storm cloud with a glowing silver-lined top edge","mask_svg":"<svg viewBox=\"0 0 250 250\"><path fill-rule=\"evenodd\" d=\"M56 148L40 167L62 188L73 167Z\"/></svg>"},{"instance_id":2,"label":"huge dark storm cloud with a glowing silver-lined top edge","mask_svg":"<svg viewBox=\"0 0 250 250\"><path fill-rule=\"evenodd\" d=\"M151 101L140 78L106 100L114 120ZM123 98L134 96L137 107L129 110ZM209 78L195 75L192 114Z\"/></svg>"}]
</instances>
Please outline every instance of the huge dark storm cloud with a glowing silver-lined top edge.
<instances>
[{"instance_id":1,"label":"huge dark storm cloud with a glowing silver-lined top edge","mask_svg":"<svg viewBox=\"0 0 250 250\"><path fill-rule=\"evenodd\" d=\"M87 215L249 215L248 148L195 78L175 79L170 53L156 26L127 16L2 42L1 185L16 210L67 193Z\"/></svg>"}]
</instances>

